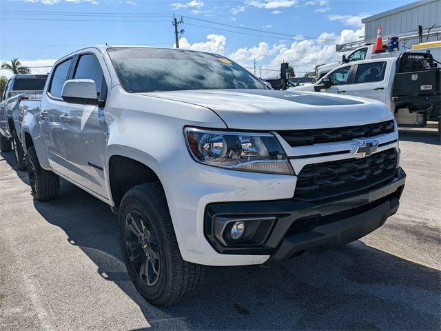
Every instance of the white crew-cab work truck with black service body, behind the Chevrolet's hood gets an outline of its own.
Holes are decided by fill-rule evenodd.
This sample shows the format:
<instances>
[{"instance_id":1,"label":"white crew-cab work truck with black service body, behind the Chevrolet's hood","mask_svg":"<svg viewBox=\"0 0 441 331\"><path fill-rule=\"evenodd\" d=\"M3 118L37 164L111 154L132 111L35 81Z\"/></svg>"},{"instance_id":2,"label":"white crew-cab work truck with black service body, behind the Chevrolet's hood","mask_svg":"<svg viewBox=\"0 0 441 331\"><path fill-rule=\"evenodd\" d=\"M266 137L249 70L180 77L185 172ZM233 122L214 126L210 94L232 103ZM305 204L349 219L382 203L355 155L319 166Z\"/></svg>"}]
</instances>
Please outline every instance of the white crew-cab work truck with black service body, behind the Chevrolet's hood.
<instances>
[{"instance_id":1,"label":"white crew-cab work truck with black service body, behind the Chevrolet's hood","mask_svg":"<svg viewBox=\"0 0 441 331\"><path fill-rule=\"evenodd\" d=\"M399 57L344 64L313 86L289 90L376 99L387 105L401 127L440 121L441 68L430 53L402 52Z\"/></svg>"}]
</instances>

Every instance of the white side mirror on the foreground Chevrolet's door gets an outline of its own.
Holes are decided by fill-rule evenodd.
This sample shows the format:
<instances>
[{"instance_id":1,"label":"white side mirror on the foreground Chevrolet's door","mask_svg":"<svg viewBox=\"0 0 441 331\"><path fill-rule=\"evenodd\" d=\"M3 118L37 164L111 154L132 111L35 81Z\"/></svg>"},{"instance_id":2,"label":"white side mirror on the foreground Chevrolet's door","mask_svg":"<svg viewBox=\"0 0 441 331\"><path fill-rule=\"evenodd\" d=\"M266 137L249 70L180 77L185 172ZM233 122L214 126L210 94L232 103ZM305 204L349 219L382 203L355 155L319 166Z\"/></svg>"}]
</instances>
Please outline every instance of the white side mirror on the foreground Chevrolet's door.
<instances>
[{"instance_id":1,"label":"white side mirror on the foreground Chevrolet's door","mask_svg":"<svg viewBox=\"0 0 441 331\"><path fill-rule=\"evenodd\" d=\"M68 103L103 106L103 101L98 99L96 85L92 79L70 79L65 81L61 97Z\"/></svg>"}]
</instances>

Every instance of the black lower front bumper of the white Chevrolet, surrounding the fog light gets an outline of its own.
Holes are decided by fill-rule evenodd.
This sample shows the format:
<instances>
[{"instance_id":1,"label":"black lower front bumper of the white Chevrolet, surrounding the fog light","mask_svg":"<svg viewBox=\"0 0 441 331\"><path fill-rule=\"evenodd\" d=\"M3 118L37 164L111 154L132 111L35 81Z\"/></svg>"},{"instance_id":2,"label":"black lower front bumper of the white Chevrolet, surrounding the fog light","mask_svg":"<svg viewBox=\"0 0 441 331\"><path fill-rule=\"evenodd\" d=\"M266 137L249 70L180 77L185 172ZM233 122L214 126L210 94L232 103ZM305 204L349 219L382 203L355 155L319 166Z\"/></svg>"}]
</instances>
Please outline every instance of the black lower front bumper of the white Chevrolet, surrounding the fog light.
<instances>
[{"instance_id":1,"label":"black lower front bumper of the white Chevrolet, surrounding the fog light","mask_svg":"<svg viewBox=\"0 0 441 331\"><path fill-rule=\"evenodd\" d=\"M223 254L269 254L275 265L309 250L360 239L398 210L406 174L399 168L389 183L356 197L327 203L296 199L212 203L205 210L205 237ZM240 239L230 232L245 223Z\"/></svg>"}]
</instances>

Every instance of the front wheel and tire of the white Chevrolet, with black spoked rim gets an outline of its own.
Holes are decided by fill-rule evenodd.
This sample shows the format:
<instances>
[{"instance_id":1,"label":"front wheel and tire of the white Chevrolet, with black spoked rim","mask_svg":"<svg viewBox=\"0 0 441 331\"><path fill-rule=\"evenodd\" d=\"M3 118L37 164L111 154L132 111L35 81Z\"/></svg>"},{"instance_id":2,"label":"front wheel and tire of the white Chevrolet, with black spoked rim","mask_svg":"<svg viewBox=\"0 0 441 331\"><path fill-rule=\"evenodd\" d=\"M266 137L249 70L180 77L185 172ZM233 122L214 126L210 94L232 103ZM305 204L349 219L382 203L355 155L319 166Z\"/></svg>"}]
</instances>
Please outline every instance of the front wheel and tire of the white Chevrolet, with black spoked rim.
<instances>
[{"instance_id":1,"label":"front wheel and tire of the white Chevrolet, with black spoked rim","mask_svg":"<svg viewBox=\"0 0 441 331\"><path fill-rule=\"evenodd\" d=\"M119 208L119 224L127 272L147 301L170 305L196 292L203 266L182 259L159 183L138 185L127 191ZM147 274L143 265L147 265Z\"/></svg>"}]
</instances>

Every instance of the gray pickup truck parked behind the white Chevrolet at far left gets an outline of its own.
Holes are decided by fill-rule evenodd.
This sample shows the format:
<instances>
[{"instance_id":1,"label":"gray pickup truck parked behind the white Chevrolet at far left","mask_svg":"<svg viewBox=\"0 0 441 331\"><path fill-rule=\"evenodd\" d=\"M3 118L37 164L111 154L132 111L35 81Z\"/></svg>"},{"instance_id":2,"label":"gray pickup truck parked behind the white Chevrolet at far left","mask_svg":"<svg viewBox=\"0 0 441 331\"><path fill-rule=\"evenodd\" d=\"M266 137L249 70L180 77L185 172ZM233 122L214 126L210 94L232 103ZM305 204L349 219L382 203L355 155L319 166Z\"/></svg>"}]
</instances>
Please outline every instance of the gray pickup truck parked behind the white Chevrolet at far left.
<instances>
[{"instance_id":1,"label":"gray pickup truck parked behind the white Chevrolet at far left","mask_svg":"<svg viewBox=\"0 0 441 331\"><path fill-rule=\"evenodd\" d=\"M14 149L15 161L19 170L26 170L24 152L19 137L21 135L21 114L19 104L22 100L41 99L47 74L14 74L6 85L0 99L0 150Z\"/></svg>"}]
</instances>

